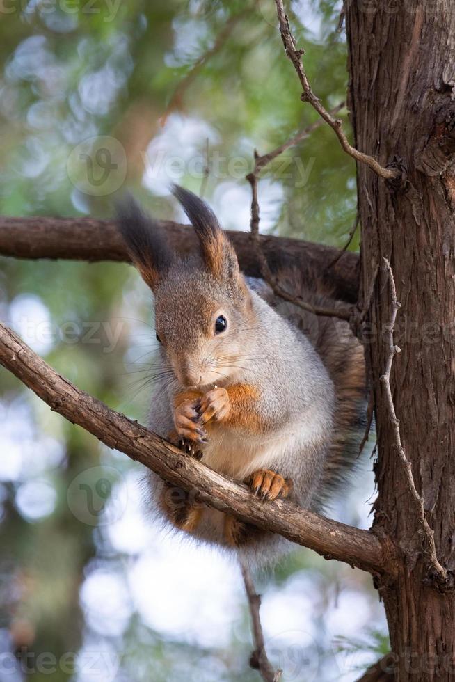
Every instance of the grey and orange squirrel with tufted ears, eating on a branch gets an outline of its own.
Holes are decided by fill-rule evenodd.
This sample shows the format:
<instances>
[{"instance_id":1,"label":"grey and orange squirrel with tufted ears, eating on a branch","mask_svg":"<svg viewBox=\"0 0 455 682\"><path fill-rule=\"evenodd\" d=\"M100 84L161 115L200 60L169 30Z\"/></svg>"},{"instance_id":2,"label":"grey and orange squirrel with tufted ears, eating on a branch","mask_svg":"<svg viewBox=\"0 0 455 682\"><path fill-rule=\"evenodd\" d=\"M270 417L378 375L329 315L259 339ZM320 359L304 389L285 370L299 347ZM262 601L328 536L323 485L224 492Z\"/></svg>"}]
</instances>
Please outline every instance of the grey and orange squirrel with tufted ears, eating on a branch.
<instances>
[{"instance_id":1,"label":"grey and orange squirrel with tufted ears, eating on a branch","mask_svg":"<svg viewBox=\"0 0 455 682\"><path fill-rule=\"evenodd\" d=\"M207 203L177 185L173 194L198 241L186 257L171 251L134 199L118 208L131 260L154 293L160 360L148 425L264 503L290 498L321 511L358 456L362 346L347 322L317 317L246 278ZM303 283L296 267L278 278L313 305L337 305L329 291ZM291 546L154 473L147 490L161 518L250 565L268 564Z\"/></svg>"}]
</instances>

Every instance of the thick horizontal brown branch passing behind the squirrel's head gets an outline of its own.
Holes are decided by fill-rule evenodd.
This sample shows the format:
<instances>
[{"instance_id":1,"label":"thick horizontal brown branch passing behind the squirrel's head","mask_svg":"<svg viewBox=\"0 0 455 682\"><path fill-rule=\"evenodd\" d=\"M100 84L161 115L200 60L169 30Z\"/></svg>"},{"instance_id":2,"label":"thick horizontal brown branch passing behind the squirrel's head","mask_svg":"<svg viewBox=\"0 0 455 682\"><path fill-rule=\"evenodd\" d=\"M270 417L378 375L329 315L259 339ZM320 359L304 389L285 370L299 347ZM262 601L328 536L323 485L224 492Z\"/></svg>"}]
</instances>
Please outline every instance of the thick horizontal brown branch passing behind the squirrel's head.
<instances>
[{"instance_id":1,"label":"thick horizontal brown branch passing behind the squirrel's head","mask_svg":"<svg viewBox=\"0 0 455 682\"><path fill-rule=\"evenodd\" d=\"M161 221L170 245L179 253L195 248L193 230L186 225ZM261 267L249 232L228 232L239 257L241 269L260 277ZM305 281L321 281L334 296L356 303L358 255L343 253L310 241L260 235L260 246L273 272L282 264L296 264ZM0 217L0 255L16 258L72 258L74 260L116 260L129 262L113 221L92 218L6 218ZM333 265L332 265L333 264Z\"/></svg>"}]
</instances>

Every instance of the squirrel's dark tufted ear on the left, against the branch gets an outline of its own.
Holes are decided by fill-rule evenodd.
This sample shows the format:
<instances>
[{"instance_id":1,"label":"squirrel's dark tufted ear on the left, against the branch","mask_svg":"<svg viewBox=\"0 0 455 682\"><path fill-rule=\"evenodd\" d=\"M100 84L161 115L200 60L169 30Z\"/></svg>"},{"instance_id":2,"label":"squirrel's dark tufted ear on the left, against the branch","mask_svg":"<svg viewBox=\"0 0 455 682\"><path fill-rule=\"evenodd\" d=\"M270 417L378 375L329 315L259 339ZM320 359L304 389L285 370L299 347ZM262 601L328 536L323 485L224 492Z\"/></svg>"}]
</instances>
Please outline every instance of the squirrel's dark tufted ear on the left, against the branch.
<instances>
[{"instance_id":1,"label":"squirrel's dark tufted ear on the left, against the branch","mask_svg":"<svg viewBox=\"0 0 455 682\"><path fill-rule=\"evenodd\" d=\"M147 216L131 195L117 205L120 233L131 260L145 283L154 290L173 262L173 254L157 221Z\"/></svg>"}]
</instances>

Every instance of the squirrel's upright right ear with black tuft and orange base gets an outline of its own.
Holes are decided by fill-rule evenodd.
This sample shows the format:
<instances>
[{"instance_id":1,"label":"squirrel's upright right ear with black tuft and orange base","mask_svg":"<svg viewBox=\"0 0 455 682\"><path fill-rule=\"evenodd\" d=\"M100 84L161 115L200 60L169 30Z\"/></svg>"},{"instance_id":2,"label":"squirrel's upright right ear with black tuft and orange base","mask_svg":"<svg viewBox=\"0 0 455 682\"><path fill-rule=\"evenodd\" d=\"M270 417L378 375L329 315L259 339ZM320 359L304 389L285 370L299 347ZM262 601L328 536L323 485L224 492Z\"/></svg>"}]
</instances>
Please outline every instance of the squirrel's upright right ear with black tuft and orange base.
<instances>
[{"instance_id":1,"label":"squirrel's upright right ear with black tuft and orange base","mask_svg":"<svg viewBox=\"0 0 455 682\"><path fill-rule=\"evenodd\" d=\"M234 247L211 208L193 192L177 184L172 190L198 235L202 257L209 271L218 279L243 280Z\"/></svg>"}]
</instances>

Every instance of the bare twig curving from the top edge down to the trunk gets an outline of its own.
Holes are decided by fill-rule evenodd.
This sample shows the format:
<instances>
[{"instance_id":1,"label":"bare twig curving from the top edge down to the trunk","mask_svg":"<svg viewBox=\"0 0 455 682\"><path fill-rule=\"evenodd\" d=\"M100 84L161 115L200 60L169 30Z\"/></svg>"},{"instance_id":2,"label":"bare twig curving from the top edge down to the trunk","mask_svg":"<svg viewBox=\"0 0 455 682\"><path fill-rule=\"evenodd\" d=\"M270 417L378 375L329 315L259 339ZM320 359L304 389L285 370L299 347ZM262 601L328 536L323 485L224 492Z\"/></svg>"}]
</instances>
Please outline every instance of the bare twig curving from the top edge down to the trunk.
<instances>
[{"instance_id":1,"label":"bare twig curving from the top edge down to the trunk","mask_svg":"<svg viewBox=\"0 0 455 682\"><path fill-rule=\"evenodd\" d=\"M349 156L353 157L353 159L356 159L356 161L360 161L362 164L366 164L367 166L369 166L369 168L372 168L372 170L374 170L374 172L377 173L377 175L385 178L385 180L394 180L397 177L399 177L400 175L399 170L383 168L383 166L381 166L381 164L379 164L378 161L374 159L374 157L370 157L368 156L368 154L363 154L362 152L359 152L356 148L352 147L349 144L348 138L346 137L342 129L342 121L331 116L331 114L326 110L324 105L321 104L321 100L319 100L319 97L314 95L311 89L310 81L308 81L307 74L305 73L305 70L303 68L302 63L303 50L296 49L296 42L294 40L294 37L292 36L291 29L289 27L289 22L285 13L283 0L275 0L275 4L278 14L278 22L280 24L281 38L283 45L285 46L285 52L287 57L294 65L294 69L296 70L298 79L300 80L303 89L301 100L303 102L310 102L311 106L314 109L316 109L317 113L319 113L319 116L321 116L321 118L323 118L326 121L326 123L330 125L330 127L337 135L337 138L340 140L342 148L347 154L349 154Z\"/></svg>"}]
</instances>

